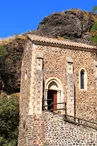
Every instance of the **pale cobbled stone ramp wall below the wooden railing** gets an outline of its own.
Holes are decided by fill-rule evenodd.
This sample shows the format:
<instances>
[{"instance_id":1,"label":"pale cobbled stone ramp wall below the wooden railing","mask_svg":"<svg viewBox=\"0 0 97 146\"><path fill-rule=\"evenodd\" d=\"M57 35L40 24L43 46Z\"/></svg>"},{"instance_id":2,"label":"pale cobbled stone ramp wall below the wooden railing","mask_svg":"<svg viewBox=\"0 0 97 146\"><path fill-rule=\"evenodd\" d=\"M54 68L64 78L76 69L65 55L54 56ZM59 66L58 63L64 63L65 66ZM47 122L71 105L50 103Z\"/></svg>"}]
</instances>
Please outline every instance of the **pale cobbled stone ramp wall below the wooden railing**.
<instances>
[{"instance_id":1,"label":"pale cobbled stone ramp wall below the wooden railing","mask_svg":"<svg viewBox=\"0 0 97 146\"><path fill-rule=\"evenodd\" d=\"M65 123L64 116L44 112L44 146L97 146L97 131Z\"/></svg>"}]
</instances>

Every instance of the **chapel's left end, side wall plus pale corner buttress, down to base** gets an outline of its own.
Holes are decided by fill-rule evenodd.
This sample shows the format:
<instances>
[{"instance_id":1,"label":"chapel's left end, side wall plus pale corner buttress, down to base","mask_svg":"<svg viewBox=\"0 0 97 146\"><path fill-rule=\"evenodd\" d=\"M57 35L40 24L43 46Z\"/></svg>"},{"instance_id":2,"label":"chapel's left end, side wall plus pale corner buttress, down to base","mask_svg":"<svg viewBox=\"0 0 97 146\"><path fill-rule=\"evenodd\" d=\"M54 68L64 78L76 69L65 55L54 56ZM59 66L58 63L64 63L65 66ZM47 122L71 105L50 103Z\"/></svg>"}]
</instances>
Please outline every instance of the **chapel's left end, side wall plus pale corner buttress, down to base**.
<instances>
[{"instance_id":1,"label":"chapel's left end, side wall plus pale corner buttress, down to base","mask_svg":"<svg viewBox=\"0 0 97 146\"><path fill-rule=\"evenodd\" d=\"M42 146L44 141L42 94L43 73L40 70L40 54L28 41L22 61L20 123L18 146ZM37 58L38 57L38 58Z\"/></svg>"}]
</instances>

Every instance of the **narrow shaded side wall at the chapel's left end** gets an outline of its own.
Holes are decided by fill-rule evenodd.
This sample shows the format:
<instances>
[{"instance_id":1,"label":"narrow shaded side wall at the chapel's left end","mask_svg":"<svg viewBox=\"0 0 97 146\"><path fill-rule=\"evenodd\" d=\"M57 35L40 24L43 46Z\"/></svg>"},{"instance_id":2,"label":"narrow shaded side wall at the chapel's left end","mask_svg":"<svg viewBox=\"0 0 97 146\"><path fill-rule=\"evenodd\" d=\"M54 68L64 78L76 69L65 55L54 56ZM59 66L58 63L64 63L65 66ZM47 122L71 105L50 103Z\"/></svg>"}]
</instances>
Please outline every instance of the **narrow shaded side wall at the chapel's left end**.
<instances>
[{"instance_id":1,"label":"narrow shaded side wall at the chapel's left end","mask_svg":"<svg viewBox=\"0 0 97 146\"><path fill-rule=\"evenodd\" d=\"M29 51L28 51L29 50ZM31 86L31 62L32 62L32 43L28 41L26 44L21 69L21 96L20 96L20 121L19 121L19 137L18 146L26 144L26 123L29 111L29 96Z\"/></svg>"}]
</instances>

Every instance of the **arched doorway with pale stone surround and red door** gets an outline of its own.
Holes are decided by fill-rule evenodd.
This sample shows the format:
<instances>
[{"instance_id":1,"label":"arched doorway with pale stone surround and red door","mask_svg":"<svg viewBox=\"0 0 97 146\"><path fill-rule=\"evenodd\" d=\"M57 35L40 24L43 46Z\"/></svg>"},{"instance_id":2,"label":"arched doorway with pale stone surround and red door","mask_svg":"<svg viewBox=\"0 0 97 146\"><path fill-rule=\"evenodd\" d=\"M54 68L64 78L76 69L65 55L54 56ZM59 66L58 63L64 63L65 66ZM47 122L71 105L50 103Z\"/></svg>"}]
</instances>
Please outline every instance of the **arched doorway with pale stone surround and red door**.
<instances>
[{"instance_id":1,"label":"arched doorway with pale stone surround and red door","mask_svg":"<svg viewBox=\"0 0 97 146\"><path fill-rule=\"evenodd\" d=\"M45 109L56 111L62 109L64 105L59 104L64 102L62 84L57 78L50 78L45 83Z\"/></svg>"}]
</instances>

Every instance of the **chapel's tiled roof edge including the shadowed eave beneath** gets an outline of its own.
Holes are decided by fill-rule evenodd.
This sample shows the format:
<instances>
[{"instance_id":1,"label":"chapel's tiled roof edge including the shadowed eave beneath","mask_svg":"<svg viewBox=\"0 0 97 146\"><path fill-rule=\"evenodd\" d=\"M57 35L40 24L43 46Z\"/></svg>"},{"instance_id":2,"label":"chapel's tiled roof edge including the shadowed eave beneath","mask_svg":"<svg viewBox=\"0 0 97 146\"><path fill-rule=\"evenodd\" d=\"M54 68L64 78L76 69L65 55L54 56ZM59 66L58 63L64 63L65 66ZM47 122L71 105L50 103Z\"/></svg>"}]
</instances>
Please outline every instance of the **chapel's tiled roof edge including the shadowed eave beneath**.
<instances>
[{"instance_id":1,"label":"chapel's tiled roof edge including the shadowed eave beneath","mask_svg":"<svg viewBox=\"0 0 97 146\"><path fill-rule=\"evenodd\" d=\"M27 34L27 37L36 45L46 45L46 46L52 46L52 47L54 46L61 48L69 47L70 49L73 50L97 51L96 46L91 46L83 43L62 41L62 40L32 35L32 34Z\"/></svg>"}]
</instances>

